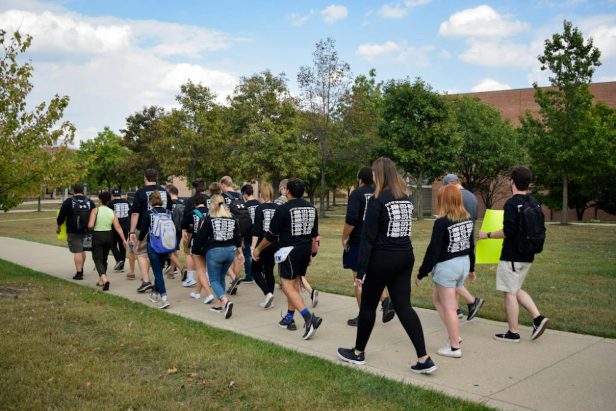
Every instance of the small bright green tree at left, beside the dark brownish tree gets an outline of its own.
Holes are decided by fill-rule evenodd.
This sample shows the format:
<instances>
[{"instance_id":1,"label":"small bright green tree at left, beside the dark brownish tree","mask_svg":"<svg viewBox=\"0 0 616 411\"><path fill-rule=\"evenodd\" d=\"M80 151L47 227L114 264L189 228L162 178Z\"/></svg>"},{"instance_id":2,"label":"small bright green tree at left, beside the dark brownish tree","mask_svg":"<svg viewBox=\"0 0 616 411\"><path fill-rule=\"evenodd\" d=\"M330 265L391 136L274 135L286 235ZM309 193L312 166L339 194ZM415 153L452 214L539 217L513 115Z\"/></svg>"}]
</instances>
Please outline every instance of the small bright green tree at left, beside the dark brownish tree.
<instances>
[{"instance_id":1,"label":"small bright green tree at left, beside the dark brownish tree","mask_svg":"<svg viewBox=\"0 0 616 411\"><path fill-rule=\"evenodd\" d=\"M121 191L131 182L137 183L135 174L124 169L132 153L121 142L122 137L105 127L94 139L82 142L79 147L79 157L87 161L89 176L99 184L104 183L107 190L115 185Z\"/></svg>"}]
</instances>

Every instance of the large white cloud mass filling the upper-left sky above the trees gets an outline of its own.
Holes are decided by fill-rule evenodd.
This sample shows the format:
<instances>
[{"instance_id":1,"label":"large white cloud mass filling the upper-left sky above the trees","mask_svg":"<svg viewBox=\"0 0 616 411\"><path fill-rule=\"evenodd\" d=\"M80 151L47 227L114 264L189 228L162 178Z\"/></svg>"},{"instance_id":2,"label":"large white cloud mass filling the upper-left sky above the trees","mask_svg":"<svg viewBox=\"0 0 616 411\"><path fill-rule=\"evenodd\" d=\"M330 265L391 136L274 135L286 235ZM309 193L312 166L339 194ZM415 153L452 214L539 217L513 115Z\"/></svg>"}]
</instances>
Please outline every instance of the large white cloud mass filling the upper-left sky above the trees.
<instances>
[{"instance_id":1,"label":"large white cloud mass filling the upper-left sky above the trees","mask_svg":"<svg viewBox=\"0 0 616 411\"><path fill-rule=\"evenodd\" d=\"M22 34L33 36L26 53L34 67L28 104L55 93L70 96L64 119L77 128L76 144L104 126L117 132L144 106L177 107L174 97L188 79L208 86L221 103L237 81L230 71L206 67L203 58L243 40L222 31L75 12L0 12L9 33L20 24Z\"/></svg>"}]
</instances>

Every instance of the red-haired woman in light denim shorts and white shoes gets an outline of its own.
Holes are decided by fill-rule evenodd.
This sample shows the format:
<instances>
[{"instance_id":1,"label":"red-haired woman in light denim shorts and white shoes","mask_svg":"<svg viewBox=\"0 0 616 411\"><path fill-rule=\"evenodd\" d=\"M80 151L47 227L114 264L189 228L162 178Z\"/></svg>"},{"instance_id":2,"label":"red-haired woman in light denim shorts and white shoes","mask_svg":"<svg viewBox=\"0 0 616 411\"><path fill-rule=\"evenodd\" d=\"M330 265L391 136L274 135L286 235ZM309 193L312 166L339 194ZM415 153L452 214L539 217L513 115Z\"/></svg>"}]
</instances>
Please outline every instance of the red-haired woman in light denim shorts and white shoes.
<instances>
[{"instance_id":1,"label":"red-haired woman in light denim shorts and white shoes","mask_svg":"<svg viewBox=\"0 0 616 411\"><path fill-rule=\"evenodd\" d=\"M434 221L432 238L415 284L432 271L432 301L447 327L447 344L437 350L441 356L460 358L460 322L456 287L468 277L475 282L475 252L472 219L464 209L462 193L455 185L445 185L437 195L439 218Z\"/></svg>"}]
</instances>

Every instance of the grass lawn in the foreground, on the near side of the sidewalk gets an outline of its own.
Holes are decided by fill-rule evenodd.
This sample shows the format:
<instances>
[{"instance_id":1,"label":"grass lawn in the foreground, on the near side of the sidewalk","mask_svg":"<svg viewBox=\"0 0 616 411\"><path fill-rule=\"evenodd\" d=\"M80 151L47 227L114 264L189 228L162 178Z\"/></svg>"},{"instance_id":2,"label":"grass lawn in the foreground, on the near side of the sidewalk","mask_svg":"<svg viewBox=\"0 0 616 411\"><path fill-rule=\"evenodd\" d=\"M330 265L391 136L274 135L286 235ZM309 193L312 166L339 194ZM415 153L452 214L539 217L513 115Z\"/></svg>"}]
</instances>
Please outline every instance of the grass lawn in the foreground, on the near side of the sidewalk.
<instances>
[{"instance_id":1,"label":"grass lawn in the foreground, on the near side of the sidewalk","mask_svg":"<svg viewBox=\"0 0 616 411\"><path fill-rule=\"evenodd\" d=\"M487 409L10 262L0 272L2 409Z\"/></svg>"}]
</instances>

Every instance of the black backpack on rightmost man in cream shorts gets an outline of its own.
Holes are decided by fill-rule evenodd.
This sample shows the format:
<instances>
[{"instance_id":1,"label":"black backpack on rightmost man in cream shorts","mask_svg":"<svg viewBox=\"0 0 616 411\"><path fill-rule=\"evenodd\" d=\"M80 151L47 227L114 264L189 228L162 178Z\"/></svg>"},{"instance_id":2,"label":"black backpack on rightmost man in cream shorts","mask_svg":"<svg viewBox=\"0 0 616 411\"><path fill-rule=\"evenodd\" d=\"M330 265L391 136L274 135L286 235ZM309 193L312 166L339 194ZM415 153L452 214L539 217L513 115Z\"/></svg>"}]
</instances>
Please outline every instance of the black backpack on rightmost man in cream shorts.
<instances>
[{"instance_id":1,"label":"black backpack on rightmost man in cream shorts","mask_svg":"<svg viewBox=\"0 0 616 411\"><path fill-rule=\"evenodd\" d=\"M527 195L517 206L520 216L514 242L521 254L538 254L543 251L545 242L545 216L539 201Z\"/></svg>"}]
</instances>

